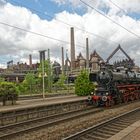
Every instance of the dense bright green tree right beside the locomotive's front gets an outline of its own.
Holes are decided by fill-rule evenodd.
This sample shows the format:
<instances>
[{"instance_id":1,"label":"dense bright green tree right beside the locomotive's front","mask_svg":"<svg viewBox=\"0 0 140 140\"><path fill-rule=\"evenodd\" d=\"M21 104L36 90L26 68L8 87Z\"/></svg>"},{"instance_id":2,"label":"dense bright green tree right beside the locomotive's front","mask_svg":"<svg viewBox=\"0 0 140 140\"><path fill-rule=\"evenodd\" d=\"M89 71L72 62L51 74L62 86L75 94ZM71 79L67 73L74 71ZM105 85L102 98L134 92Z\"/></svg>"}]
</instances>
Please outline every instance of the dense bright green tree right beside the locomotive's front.
<instances>
[{"instance_id":1,"label":"dense bright green tree right beside the locomotive's front","mask_svg":"<svg viewBox=\"0 0 140 140\"><path fill-rule=\"evenodd\" d=\"M89 95L94 89L93 84L89 80L87 71L81 71L80 75L75 80L75 94L79 96Z\"/></svg>"}]
</instances>

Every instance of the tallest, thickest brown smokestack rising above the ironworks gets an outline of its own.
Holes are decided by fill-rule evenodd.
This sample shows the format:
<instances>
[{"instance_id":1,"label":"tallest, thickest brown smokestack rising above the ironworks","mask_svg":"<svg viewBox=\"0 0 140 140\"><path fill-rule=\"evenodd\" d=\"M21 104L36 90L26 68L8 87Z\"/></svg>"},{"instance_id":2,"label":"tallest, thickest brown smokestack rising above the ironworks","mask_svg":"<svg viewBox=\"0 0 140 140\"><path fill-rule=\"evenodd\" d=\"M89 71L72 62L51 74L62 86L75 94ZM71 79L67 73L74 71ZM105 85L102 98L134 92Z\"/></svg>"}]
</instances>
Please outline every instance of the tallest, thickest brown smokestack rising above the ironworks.
<instances>
[{"instance_id":1,"label":"tallest, thickest brown smokestack rising above the ironworks","mask_svg":"<svg viewBox=\"0 0 140 140\"><path fill-rule=\"evenodd\" d=\"M71 70L73 70L75 68L75 42L74 42L73 27L71 27L70 40L71 40Z\"/></svg>"}]
</instances>

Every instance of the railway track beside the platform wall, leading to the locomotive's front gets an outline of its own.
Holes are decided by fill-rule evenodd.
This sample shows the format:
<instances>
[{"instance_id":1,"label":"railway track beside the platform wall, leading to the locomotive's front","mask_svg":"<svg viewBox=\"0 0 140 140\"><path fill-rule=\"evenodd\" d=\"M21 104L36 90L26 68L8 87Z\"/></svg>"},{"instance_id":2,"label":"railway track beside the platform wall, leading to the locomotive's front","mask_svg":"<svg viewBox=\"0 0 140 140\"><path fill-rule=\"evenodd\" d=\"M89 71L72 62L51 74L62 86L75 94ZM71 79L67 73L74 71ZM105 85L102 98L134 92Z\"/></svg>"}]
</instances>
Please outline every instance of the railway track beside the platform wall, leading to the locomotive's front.
<instances>
[{"instance_id":1,"label":"railway track beside the platform wall, leading to the locomotive's front","mask_svg":"<svg viewBox=\"0 0 140 140\"><path fill-rule=\"evenodd\" d=\"M22 134L25 132L38 130L40 128L49 127L53 125L57 125L59 123L72 120L77 117L85 116L91 113L100 112L103 109L101 108L88 108L88 109L80 109L75 111L69 111L66 113L60 113L56 115L51 115L47 117L36 118L20 123L15 123L11 125L1 126L0 127L0 139L8 139L12 136L17 136L18 134Z\"/></svg>"}]
</instances>

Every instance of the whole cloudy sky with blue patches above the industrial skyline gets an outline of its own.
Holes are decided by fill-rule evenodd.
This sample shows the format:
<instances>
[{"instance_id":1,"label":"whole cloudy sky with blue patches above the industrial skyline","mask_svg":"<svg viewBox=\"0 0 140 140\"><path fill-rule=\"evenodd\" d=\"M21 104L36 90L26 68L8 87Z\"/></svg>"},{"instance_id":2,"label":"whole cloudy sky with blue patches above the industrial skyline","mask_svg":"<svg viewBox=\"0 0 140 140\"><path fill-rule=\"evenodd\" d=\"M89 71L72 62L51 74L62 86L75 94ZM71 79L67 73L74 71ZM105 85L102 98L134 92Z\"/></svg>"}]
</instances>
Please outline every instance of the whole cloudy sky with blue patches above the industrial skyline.
<instances>
[{"instance_id":1,"label":"whole cloudy sky with blue patches above the industrial skyline","mask_svg":"<svg viewBox=\"0 0 140 140\"><path fill-rule=\"evenodd\" d=\"M85 56L85 38L88 37L90 53L96 50L106 60L120 44L140 65L140 0L82 1L135 35L80 0L0 0L0 67L10 60L29 63L29 54L34 63L39 62L39 50L47 49L52 61L61 62L62 46L65 55L68 49L70 56L71 26L75 27L76 55L82 52ZM116 60L123 58L121 52L114 56Z\"/></svg>"}]
</instances>

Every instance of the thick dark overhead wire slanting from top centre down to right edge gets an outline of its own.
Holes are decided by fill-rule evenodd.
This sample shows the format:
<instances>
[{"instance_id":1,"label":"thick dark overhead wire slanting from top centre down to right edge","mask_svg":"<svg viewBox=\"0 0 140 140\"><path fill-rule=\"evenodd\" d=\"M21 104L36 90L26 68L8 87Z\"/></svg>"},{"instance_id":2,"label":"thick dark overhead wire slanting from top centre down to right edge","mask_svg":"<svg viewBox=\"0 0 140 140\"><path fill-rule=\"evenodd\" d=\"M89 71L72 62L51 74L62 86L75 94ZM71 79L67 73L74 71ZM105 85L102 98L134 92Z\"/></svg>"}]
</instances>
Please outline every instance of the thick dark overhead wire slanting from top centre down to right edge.
<instances>
[{"instance_id":1,"label":"thick dark overhead wire slanting from top centre down to right edge","mask_svg":"<svg viewBox=\"0 0 140 140\"><path fill-rule=\"evenodd\" d=\"M88 3L84 2L83 0L80 0L83 4L85 4L87 7L90 7L91 9L93 9L94 11L96 11L97 13L99 13L100 15L104 16L105 18L107 18L108 20L112 21L113 23L115 23L116 25L118 25L119 27L123 28L124 30L126 30L127 32L129 32L130 34L136 36L137 38L140 38L139 35L135 34L134 32L130 31L129 29L125 28L124 26L122 26L121 24L117 23L115 20L111 19L109 16L103 14L101 11L97 10L95 7L89 5Z\"/></svg>"}]
</instances>

